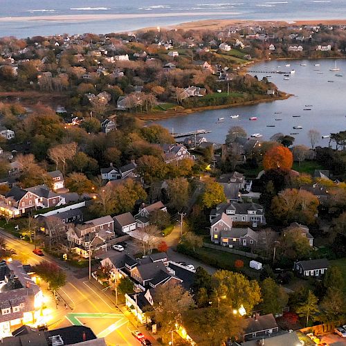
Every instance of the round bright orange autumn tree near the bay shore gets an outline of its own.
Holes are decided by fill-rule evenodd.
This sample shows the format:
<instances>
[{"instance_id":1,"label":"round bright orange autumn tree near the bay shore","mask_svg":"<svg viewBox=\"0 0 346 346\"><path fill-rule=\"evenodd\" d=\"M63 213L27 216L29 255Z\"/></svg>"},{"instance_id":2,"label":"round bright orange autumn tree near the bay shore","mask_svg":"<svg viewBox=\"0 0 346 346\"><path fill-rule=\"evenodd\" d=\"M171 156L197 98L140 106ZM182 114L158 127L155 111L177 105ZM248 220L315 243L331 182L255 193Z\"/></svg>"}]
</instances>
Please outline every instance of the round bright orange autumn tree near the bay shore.
<instances>
[{"instance_id":1,"label":"round bright orange autumn tree near the bay shore","mask_svg":"<svg viewBox=\"0 0 346 346\"><path fill-rule=\"evenodd\" d=\"M293 155L291 151L282 146L273 147L264 154L263 167L264 170L272 170L273 168L281 168L282 170L291 170L293 165Z\"/></svg>"}]
</instances>

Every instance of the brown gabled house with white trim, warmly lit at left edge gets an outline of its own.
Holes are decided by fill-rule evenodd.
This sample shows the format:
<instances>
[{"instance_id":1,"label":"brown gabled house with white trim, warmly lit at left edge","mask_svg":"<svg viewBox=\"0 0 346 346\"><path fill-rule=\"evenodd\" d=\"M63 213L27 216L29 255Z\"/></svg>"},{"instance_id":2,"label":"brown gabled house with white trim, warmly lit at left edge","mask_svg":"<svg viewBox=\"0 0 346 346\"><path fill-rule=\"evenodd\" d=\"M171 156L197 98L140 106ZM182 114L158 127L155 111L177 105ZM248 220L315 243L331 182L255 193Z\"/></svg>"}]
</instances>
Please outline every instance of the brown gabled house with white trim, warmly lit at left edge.
<instances>
[{"instance_id":1,"label":"brown gabled house with white trim, warmly lit at left edge","mask_svg":"<svg viewBox=\"0 0 346 346\"><path fill-rule=\"evenodd\" d=\"M5 195L0 194L0 213L17 217L37 208L58 207L65 204L64 197L49 190L46 185L21 189L13 186Z\"/></svg>"}]
</instances>

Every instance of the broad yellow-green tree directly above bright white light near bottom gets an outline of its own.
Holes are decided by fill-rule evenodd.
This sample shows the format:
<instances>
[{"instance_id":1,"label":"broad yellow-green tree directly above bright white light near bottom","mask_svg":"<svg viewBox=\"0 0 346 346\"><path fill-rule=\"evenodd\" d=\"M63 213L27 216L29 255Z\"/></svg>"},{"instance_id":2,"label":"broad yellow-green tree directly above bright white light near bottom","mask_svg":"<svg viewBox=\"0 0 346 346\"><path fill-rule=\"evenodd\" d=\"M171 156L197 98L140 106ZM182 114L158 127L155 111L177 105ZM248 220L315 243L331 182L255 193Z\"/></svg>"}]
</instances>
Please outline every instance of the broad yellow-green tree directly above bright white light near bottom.
<instances>
[{"instance_id":1,"label":"broad yellow-green tree directly above bright white light near bottom","mask_svg":"<svg viewBox=\"0 0 346 346\"><path fill-rule=\"evenodd\" d=\"M244 307L249 313L261 302L260 284L256 280L248 280L241 273L232 271L216 271L212 275L213 299L217 307L227 306L239 311Z\"/></svg>"}]
</instances>

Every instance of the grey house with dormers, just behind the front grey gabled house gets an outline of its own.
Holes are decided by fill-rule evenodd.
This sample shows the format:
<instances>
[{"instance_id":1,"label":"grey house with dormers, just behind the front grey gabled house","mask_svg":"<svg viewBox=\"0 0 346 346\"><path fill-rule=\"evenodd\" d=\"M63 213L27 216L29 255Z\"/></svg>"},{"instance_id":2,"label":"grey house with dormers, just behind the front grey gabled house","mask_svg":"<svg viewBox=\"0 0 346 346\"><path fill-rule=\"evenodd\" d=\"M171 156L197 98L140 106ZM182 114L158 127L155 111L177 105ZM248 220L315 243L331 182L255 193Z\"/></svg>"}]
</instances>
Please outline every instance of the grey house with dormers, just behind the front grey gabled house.
<instances>
[{"instance_id":1,"label":"grey house with dormers, just behind the front grey gabled house","mask_svg":"<svg viewBox=\"0 0 346 346\"><path fill-rule=\"evenodd\" d=\"M266 224L263 206L257 203L220 203L210 212L210 222L213 222L222 213L226 214L228 219L233 222L251 223L253 227Z\"/></svg>"}]
</instances>

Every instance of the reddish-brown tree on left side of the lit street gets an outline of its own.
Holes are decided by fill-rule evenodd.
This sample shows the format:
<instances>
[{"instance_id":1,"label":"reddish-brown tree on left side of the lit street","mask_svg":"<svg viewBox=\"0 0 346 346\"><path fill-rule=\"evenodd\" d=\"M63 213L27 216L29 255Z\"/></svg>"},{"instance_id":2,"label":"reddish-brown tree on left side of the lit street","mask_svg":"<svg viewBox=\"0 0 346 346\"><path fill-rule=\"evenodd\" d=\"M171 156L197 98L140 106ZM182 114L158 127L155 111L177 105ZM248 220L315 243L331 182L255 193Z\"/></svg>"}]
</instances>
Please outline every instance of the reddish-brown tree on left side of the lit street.
<instances>
[{"instance_id":1,"label":"reddish-brown tree on left side of the lit street","mask_svg":"<svg viewBox=\"0 0 346 346\"><path fill-rule=\"evenodd\" d=\"M52 262L41 262L33 266L33 271L47 282L49 288L55 291L66 284L66 273Z\"/></svg>"}]
</instances>

